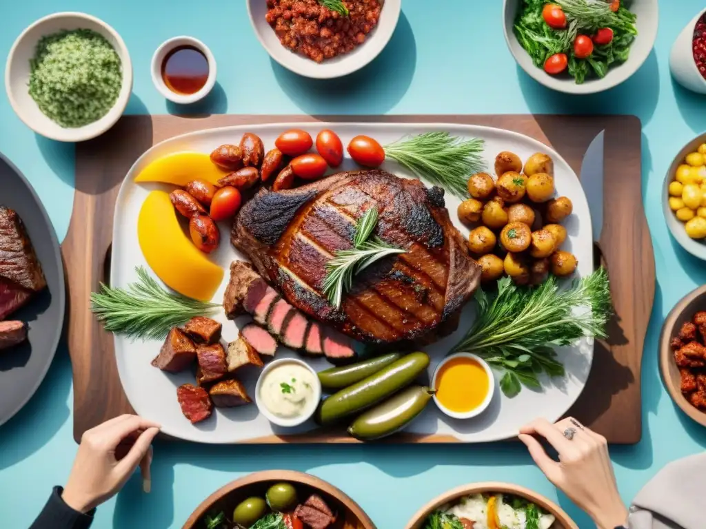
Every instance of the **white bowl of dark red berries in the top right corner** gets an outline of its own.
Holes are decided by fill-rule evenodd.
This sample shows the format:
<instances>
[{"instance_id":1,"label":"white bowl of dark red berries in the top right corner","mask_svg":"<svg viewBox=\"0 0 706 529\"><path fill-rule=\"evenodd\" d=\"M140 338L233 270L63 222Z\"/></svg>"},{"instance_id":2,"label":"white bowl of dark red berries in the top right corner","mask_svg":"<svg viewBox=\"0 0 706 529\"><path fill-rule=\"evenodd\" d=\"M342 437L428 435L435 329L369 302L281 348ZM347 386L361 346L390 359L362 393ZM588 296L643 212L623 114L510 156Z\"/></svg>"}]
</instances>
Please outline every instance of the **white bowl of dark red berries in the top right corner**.
<instances>
[{"instance_id":1,"label":"white bowl of dark red berries in the top right corner","mask_svg":"<svg viewBox=\"0 0 706 529\"><path fill-rule=\"evenodd\" d=\"M669 69L677 83L706 94L706 9L682 30L671 48Z\"/></svg>"}]
</instances>

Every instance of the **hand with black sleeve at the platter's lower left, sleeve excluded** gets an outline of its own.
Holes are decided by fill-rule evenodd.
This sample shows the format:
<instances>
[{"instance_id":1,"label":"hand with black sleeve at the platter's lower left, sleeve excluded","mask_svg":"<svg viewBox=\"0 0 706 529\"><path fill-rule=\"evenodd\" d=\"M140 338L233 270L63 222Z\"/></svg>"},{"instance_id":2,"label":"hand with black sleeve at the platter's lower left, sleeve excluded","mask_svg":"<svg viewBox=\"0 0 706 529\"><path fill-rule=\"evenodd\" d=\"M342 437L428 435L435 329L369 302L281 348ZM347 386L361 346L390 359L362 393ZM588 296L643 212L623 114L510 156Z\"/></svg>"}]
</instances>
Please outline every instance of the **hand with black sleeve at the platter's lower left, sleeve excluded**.
<instances>
[{"instance_id":1,"label":"hand with black sleeve at the platter's lower left, sleeve excluded","mask_svg":"<svg viewBox=\"0 0 706 529\"><path fill-rule=\"evenodd\" d=\"M140 465L145 492L150 489L152 439L160 425L136 415L120 415L81 437L68 477L64 502L86 513L114 496Z\"/></svg>"}]
</instances>

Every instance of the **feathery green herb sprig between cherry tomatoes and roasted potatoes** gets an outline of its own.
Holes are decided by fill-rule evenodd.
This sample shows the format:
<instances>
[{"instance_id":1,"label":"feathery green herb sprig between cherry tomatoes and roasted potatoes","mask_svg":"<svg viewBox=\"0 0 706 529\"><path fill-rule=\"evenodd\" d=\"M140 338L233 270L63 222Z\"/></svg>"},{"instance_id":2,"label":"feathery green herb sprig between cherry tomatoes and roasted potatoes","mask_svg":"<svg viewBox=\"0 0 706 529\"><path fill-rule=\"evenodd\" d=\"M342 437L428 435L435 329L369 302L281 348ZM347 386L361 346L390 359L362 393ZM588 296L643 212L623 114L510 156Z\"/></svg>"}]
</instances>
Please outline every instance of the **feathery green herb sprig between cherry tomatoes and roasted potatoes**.
<instances>
[{"instance_id":1,"label":"feathery green herb sprig between cherry tomatoes and roasted potatoes","mask_svg":"<svg viewBox=\"0 0 706 529\"><path fill-rule=\"evenodd\" d=\"M486 169L484 141L462 140L447 132L430 132L385 145L385 157L417 177L441 186L460 198L468 197L468 178Z\"/></svg>"}]
</instances>

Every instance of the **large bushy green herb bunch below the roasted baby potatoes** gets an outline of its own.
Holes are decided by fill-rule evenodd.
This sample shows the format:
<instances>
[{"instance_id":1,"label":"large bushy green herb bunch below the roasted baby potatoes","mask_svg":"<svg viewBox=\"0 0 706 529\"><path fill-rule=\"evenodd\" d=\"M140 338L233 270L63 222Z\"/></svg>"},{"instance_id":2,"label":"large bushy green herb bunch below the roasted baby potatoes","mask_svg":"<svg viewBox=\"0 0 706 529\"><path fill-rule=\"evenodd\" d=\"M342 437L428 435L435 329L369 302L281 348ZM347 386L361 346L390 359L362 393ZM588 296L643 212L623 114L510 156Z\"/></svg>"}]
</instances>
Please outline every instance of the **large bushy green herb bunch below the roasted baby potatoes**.
<instances>
[{"instance_id":1,"label":"large bushy green herb bunch below the roasted baby potatoes","mask_svg":"<svg viewBox=\"0 0 706 529\"><path fill-rule=\"evenodd\" d=\"M564 375L554 347L584 336L603 338L612 314L610 285L604 268L560 291L554 276L537 288L517 286L504 277L491 297L476 293L478 315L453 352L475 353L504 370L500 386L513 397L522 385L539 389L539 375Z\"/></svg>"}]
</instances>

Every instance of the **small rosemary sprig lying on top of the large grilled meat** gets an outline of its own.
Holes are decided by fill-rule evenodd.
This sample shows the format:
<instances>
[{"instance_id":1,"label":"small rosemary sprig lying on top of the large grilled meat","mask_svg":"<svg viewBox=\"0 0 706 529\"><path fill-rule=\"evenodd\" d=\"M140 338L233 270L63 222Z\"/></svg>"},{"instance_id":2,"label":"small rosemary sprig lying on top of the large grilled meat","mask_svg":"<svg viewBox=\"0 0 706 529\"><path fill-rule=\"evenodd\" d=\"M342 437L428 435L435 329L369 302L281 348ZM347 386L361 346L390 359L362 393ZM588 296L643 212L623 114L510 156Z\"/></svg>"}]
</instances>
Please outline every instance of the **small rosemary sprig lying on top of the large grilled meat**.
<instances>
[{"instance_id":1,"label":"small rosemary sprig lying on top of the large grilled meat","mask_svg":"<svg viewBox=\"0 0 706 529\"><path fill-rule=\"evenodd\" d=\"M335 308L340 308L343 294L353 286L353 276L383 257L407 252L407 250L388 245L378 236L371 238L377 224L378 209L371 207L356 225L353 248L338 250L333 259L326 263L323 293Z\"/></svg>"}]
</instances>

